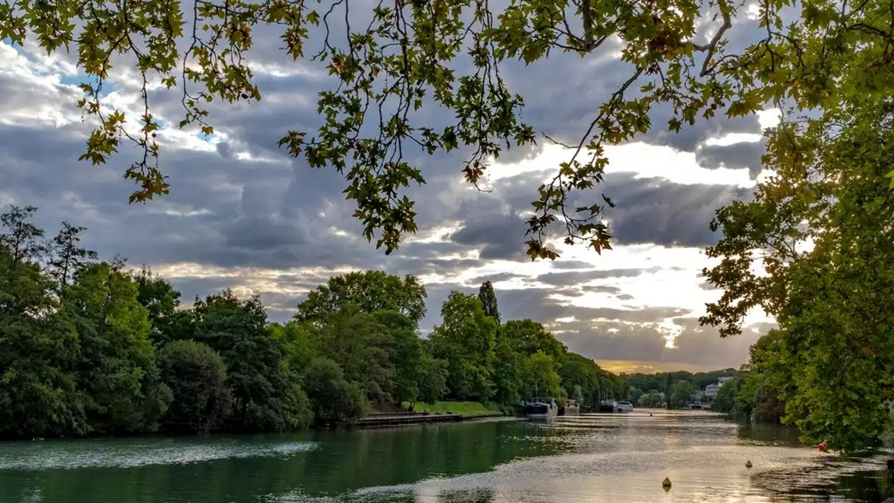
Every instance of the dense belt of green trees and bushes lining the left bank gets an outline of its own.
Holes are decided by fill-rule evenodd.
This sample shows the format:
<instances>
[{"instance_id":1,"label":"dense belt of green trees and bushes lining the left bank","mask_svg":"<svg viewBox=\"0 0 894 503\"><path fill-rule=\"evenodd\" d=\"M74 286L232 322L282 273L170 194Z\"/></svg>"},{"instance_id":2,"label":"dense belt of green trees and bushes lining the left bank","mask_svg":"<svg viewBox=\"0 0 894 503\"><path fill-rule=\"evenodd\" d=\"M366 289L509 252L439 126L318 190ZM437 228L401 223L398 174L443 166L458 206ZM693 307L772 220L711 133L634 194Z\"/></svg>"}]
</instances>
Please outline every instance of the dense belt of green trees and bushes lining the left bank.
<instances>
[{"instance_id":1,"label":"dense belt of green trees and bushes lining the left bank","mask_svg":"<svg viewBox=\"0 0 894 503\"><path fill-rule=\"evenodd\" d=\"M374 270L273 322L229 288L184 306L148 268L82 248L83 227L46 239L36 211L0 216L0 439L301 431L404 403L511 415L525 396L627 393L542 324L501 322L489 282L451 292L428 337L426 287Z\"/></svg>"}]
</instances>

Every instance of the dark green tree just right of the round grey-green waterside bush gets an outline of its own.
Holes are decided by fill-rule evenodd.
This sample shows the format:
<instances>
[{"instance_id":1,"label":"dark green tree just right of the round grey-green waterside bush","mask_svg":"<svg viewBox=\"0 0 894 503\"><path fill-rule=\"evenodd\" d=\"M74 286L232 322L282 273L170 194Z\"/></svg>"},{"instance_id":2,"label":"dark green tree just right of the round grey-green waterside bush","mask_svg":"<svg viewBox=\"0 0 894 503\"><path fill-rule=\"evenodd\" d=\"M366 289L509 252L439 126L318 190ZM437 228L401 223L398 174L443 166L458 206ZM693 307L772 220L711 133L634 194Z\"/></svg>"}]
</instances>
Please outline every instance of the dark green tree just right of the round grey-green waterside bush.
<instances>
[{"instance_id":1,"label":"dark green tree just right of the round grey-green waterside bush","mask_svg":"<svg viewBox=\"0 0 894 503\"><path fill-rule=\"evenodd\" d=\"M226 364L233 406L229 426L238 431L294 431L307 425L299 378L285 363L282 338L266 328L257 296L241 300L230 290L208 295L194 307L196 340Z\"/></svg>"}]
</instances>

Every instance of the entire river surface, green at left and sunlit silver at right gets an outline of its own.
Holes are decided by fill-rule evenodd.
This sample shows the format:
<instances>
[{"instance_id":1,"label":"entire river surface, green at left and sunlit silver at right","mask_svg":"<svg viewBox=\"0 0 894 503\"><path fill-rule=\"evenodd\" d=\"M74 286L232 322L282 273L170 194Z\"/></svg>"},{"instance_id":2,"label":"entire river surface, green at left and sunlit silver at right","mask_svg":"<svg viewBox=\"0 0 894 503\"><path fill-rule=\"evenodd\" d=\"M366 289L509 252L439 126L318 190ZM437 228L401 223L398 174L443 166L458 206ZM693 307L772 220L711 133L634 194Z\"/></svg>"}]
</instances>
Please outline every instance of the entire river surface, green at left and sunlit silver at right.
<instances>
[{"instance_id":1,"label":"entire river surface, green at left and sunlit silver at right","mask_svg":"<svg viewBox=\"0 0 894 503\"><path fill-rule=\"evenodd\" d=\"M879 502L894 485L880 456L822 454L712 413L651 413L4 442L0 502Z\"/></svg>"}]
</instances>

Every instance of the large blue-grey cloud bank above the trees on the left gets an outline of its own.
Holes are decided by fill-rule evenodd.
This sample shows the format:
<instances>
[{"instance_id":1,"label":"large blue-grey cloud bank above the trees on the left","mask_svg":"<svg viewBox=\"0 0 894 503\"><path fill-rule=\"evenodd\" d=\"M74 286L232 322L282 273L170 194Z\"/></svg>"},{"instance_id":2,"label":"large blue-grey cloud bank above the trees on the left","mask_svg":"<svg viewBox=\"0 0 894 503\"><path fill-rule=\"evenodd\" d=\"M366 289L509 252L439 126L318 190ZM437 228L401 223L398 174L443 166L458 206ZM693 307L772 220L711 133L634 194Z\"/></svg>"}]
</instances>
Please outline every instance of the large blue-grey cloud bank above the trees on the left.
<instances>
[{"instance_id":1,"label":"large blue-grey cloud bank above the trees on the left","mask_svg":"<svg viewBox=\"0 0 894 503\"><path fill-rule=\"evenodd\" d=\"M38 222L48 233L63 219L88 227L85 243L104 257L117 252L134 263L268 268L362 267L383 260L357 234L330 233L328 226L348 222L350 215L325 219L316 217L318 207L305 211L289 204L289 192L274 188L289 184L288 166L169 149L165 160L176 179L172 193L147 205L128 205L133 187L122 180L120 165L92 168L78 162L82 137L61 129L47 141L37 128L0 126L0 190L13 187L10 195L17 203L38 206ZM47 147L22 148L42 143ZM318 192L311 188L301 200L325 203Z\"/></svg>"}]
</instances>

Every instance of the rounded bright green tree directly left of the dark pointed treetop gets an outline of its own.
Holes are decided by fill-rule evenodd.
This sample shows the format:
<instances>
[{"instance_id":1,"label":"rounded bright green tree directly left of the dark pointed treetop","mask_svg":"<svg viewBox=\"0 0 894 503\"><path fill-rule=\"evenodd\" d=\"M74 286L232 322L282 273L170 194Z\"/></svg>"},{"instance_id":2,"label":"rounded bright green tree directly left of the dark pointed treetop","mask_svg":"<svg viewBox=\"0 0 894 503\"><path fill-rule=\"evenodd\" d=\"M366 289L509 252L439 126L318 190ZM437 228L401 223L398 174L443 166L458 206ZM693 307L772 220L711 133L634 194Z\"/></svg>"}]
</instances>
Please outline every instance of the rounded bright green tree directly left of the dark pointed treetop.
<instances>
[{"instance_id":1,"label":"rounded bright green tree directly left of the dark pointed treetop","mask_svg":"<svg viewBox=\"0 0 894 503\"><path fill-rule=\"evenodd\" d=\"M448 362L451 394L487 401L493 396L496 323L475 295L452 291L441 308L443 324L434 328L434 355Z\"/></svg>"}]
</instances>

